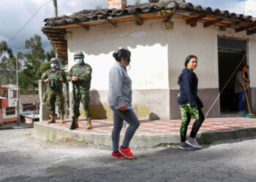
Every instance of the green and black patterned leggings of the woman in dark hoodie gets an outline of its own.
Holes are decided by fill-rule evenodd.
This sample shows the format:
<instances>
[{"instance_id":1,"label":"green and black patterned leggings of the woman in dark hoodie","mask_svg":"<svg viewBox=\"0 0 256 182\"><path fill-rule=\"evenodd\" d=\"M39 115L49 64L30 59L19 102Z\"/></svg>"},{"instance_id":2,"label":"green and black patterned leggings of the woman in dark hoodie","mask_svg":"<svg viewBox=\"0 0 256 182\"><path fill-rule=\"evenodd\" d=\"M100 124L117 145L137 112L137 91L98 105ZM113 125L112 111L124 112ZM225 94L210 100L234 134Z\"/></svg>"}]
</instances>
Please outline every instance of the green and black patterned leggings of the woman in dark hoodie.
<instances>
[{"instance_id":1,"label":"green and black patterned leggings of the woman in dark hoodie","mask_svg":"<svg viewBox=\"0 0 256 182\"><path fill-rule=\"evenodd\" d=\"M189 103L185 103L185 104L179 105L179 107L181 108L181 119L182 119L181 128L180 128L181 142L185 142L187 137L187 127L189 125L191 116L194 116L195 118L195 122L190 132L191 138L195 138L195 135L197 135L197 132L200 129L200 126L203 123L205 117L203 115L203 111L201 110L201 108L197 108L197 106L195 106L195 108L191 108Z\"/></svg>"}]
</instances>

